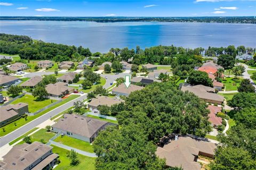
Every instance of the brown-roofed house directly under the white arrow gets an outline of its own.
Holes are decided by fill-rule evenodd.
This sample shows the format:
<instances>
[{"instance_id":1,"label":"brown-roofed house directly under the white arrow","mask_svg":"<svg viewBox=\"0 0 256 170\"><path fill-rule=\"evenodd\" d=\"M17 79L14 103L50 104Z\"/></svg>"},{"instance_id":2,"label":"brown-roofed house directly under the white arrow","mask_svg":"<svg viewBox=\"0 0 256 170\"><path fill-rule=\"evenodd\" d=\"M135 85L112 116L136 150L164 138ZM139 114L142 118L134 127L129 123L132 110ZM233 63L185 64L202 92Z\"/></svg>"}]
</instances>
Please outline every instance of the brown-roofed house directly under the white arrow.
<instances>
[{"instance_id":1,"label":"brown-roofed house directly under the white arrow","mask_svg":"<svg viewBox=\"0 0 256 170\"><path fill-rule=\"evenodd\" d=\"M129 88L126 88L125 84L120 84L118 87L114 87L112 89L112 94L115 94L116 96L129 96L131 92L136 90L141 90L144 87L136 86L134 84L130 84Z\"/></svg>"}]
</instances>

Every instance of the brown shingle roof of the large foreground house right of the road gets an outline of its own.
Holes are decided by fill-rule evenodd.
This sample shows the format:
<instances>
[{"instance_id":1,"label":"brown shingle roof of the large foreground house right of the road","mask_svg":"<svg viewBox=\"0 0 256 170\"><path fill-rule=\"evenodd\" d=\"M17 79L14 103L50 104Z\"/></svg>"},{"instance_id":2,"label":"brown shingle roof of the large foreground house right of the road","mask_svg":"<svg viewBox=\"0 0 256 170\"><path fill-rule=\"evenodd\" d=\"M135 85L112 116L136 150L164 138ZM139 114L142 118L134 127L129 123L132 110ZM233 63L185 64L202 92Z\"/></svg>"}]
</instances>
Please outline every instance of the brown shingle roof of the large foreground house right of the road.
<instances>
[{"instance_id":1,"label":"brown shingle roof of the large foreground house right of the road","mask_svg":"<svg viewBox=\"0 0 256 170\"><path fill-rule=\"evenodd\" d=\"M95 132L99 131L103 125L108 123L78 114L65 114L63 117L53 125L53 128L82 135L87 138L91 138Z\"/></svg>"}]
</instances>

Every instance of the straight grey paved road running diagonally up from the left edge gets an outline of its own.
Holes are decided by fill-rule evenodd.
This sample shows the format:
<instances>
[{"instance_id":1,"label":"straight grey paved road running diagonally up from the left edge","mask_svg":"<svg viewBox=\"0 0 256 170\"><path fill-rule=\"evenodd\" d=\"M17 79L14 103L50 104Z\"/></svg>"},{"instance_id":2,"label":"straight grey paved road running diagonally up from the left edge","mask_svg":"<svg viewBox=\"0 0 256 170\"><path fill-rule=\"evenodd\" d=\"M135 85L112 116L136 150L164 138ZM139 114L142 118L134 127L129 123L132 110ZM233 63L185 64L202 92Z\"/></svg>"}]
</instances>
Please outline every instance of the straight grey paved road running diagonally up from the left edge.
<instances>
[{"instance_id":1,"label":"straight grey paved road running diagonally up from the left edge","mask_svg":"<svg viewBox=\"0 0 256 170\"><path fill-rule=\"evenodd\" d=\"M5 144L13 141L14 139L20 137L20 135L30 131L31 129L35 128L36 126L38 126L39 124L49 120L49 118L52 116L55 116L57 114L59 114L60 112L63 112L65 111L67 108L73 106L73 103L77 100L84 100L87 98L87 95L84 95L84 96L81 96L81 97L78 97L74 100L71 100L69 101L68 103L64 104L64 105L61 105L60 107L58 108L55 108L53 109L52 111L36 118L34 121L31 121L29 123L27 123L26 125L22 126L21 128L5 135L4 137L2 137L0 139L0 147L4 146Z\"/></svg>"}]
</instances>

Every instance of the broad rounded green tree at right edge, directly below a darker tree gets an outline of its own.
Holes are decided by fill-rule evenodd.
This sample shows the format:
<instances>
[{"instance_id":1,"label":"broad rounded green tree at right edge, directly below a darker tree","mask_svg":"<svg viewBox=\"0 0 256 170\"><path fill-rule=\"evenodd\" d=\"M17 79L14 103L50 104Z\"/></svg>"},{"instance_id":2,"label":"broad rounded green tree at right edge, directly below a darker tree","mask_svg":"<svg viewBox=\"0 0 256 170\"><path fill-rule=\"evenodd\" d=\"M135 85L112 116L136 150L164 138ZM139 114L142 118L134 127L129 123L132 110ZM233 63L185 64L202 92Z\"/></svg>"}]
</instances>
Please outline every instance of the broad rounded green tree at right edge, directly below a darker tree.
<instances>
[{"instance_id":1,"label":"broad rounded green tree at right edge, directly below a darker tree","mask_svg":"<svg viewBox=\"0 0 256 170\"><path fill-rule=\"evenodd\" d=\"M228 100L228 106L237 108L256 107L256 94L238 92L231 100Z\"/></svg>"}]
</instances>

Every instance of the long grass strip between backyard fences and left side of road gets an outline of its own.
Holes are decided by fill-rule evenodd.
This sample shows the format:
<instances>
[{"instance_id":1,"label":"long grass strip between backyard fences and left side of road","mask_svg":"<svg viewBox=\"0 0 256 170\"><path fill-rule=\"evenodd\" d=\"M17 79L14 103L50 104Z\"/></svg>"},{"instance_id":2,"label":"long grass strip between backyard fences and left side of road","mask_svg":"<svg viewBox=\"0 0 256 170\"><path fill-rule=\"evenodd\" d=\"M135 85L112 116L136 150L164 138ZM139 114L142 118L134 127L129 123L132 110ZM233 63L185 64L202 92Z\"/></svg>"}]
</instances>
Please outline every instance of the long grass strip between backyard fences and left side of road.
<instances>
[{"instance_id":1,"label":"long grass strip between backyard fences and left side of road","mask_svg":"<svg viewBox=\"0 0 256 170\"><path fill-rule=\"evenodd\" d=\"M19 120L15 121L16 126L15 126L14 122L3 126L2 128L0 128L0 137L2 137L3 135L6 135L8 133L11 133L12 131L20 128L21 126L23 126L23 125L25 125L25 124L35 120L35 118L37 118L39 116L42 116L43 114L45 114L47 112L50 112L54 108L57 108L57 107L65 104L65 103L67 103L68 101L74 100L77 97L79 97L79 95L70 95L68 98L63 99L60 103L58 103L58 104L56 104L56 105L54 105L54 106L52 106L50 108L47 108L43 112L40 112L40 113L38 113L35 116L28 116L27 120L25 120L25 118L20 118Z\"/></svg>"}]
</instances>

